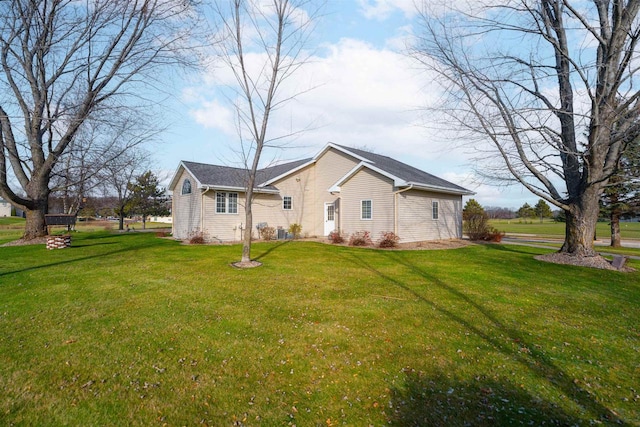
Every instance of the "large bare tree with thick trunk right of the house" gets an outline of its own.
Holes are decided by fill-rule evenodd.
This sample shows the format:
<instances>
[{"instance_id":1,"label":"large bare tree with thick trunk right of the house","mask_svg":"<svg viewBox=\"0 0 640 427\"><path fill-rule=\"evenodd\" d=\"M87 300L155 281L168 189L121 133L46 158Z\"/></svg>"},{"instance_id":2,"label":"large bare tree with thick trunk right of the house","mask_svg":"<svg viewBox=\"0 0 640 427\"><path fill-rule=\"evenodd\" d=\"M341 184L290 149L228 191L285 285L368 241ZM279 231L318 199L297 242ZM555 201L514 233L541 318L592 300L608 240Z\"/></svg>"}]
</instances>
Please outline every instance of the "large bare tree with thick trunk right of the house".
<instances>
[{"instance_id":1,"label":"large bare tree with thick trunk right of the house","mask_svg":"<svg viewBox=\"0 0 640 427\"><path fill-rule=\"evenodd\" d=\"M486 175L565 211L561 252L594 256L600 195L640 128L640 1L426 3L413 53L446 88L440 112L493 147Z\"/></svg>"}]
</instances>

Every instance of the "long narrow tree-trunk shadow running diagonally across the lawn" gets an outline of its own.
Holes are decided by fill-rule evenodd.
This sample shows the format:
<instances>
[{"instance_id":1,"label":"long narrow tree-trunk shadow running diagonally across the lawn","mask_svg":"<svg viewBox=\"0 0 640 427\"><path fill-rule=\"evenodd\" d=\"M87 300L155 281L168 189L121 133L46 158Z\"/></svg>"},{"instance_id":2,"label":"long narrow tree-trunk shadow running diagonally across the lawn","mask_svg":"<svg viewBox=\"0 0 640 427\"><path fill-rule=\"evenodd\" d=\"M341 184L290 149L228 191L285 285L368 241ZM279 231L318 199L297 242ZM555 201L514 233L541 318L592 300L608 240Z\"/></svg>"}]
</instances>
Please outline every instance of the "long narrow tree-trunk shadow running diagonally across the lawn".
<instances>
[{"instance_id":1,"label":"long narrow tree-trunk shadow running diagonally across the lawn","mask_svg":"<svg viewBox=\"0 0 640 427\"><path fill-rule=\"evenodd\" d=\"M503 250L502 247L496 248L497 250ZM420 292L414 290L409 283L400 281L384 272L380 271L371 263L367 262L364 258L366 255L357 252L345 252L344 257L348 261L351 261L362 268L369 270L370 272L378 275L382 279L386 280L389 284L395 285L407 293L413 295L417 300L428 305L430 309L436 310L439 313L446 316L449 320L460 324L469 332L478 336L484 340L488 345L493 347L496 351L508 356L511 360L521 364L526 369L529 369L536 376L544 381L548 381L551 387L561 390L568 399L584 408L591 416L597 417L599 422L624 424L624 421L620 419L614 412L598 402L590 393L582 388L579 383L572 381L572 377L566 374L562 369L553 363L545 354L536 349L533 343L529 342L526 334L521 333L518 329L512 326L507 326L502 323L497 313L492 313L490 310L477 303L470 296L464 292L456 289L438 277L431 274L428 270L408 261L406 257L394 252L381 252L381 256L389 258L390 261L405 266L408 270L412 271L417 276L421 277L429 286L436 286L443 291L448 292L453 297L463 301L467 305L465 313L469 313L469 316L464 316L451 311L438 301L433 301L425 297ZM479 315L479 316L478 316ZM480 317L488 321L491 327L487 330L480 329L477 322L472 319ZM505 337L508 339L505 340ZM516 342L518 346L513 347L511 343ZM518 349L526 349L526 351L519 351ZM422 395L409 396L409 400L422 399ZM525 410L527 409L525 405ZM457 408L443 408L444 411L449 411L450 416L455 416ZM516 419L518 419L516 417ZM407 423L402 423L399 420L397 425L412 425L411 420L406 420ZM416 425L416 424L413 424Z\"/></svg>"}]
</instances>

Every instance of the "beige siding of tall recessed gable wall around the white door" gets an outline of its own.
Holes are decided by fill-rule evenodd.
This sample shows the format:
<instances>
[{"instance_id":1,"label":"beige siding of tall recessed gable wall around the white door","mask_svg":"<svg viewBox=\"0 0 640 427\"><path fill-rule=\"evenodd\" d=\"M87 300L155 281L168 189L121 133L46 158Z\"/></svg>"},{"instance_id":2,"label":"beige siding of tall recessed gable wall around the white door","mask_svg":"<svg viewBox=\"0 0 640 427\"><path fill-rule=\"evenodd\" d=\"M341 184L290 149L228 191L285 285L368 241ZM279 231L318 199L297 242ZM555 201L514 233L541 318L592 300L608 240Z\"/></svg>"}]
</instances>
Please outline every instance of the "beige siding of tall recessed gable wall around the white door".
<instances>
[{"instance_id":1,"label":"beige siding of tall recessed gable wall around the white door","mask_svg":"<svg viewBox=\"0 0 640 427\"><path fill-rule=\"evenodd\" d=\"M313 217L309 218L310 235L324 235L324 204L335 203L336 208L336 228L342 228L341 207L338 206L338 200L344 199L340 193L331 194L329 188L333 186L340 178L346 175L358 163L357 159L347 156L346 154L330 148L315 163L315 195L310 210Z\"/></svg>"}]
</instances>

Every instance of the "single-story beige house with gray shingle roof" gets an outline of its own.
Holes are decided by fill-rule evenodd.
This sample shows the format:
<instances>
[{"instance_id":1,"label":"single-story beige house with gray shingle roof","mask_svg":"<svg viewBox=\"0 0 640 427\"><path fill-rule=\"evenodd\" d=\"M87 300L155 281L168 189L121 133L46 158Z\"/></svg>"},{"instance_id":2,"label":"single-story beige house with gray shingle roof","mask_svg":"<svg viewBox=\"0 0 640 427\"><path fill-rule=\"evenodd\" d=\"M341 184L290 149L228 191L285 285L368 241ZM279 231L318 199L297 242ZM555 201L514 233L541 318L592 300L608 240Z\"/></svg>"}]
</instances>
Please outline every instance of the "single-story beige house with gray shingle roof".
<instances>
[{"instance_id":1,"label":"single-story beige house with gray shingle roof","mask_svg":"<svg viewBox=\"0 0 640 427\"><path fill-rule=\"evenodd\" d=\"M180 162L173 192L173 236L203 232L210 239L242 238L247 171ZM393 231L402 242L462 237L462 196L456 184L387 156L327 144L313 158L258 172L253 223L306 236Z\"/></svg>"}]
</instances>

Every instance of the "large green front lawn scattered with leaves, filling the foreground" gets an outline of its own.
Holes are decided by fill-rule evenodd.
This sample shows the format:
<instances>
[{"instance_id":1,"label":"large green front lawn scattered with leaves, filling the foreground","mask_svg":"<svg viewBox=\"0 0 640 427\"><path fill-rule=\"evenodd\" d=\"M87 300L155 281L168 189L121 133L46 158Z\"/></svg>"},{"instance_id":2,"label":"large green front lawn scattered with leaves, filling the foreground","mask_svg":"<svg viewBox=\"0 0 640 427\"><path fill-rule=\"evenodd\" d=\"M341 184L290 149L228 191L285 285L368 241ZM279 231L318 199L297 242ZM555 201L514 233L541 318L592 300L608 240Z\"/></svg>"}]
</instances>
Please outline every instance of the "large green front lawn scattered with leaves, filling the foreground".
<instances>
[{"instance_id":1,"label":"large green front lawn scattered with leaves, filling the foreground","mask_svg":"<svg viewBox=\"0 0 640 427\"><path fill-rule=\"evenodd\" d=\"M0 425L640 423L640 273L477 245L0 248ZM640 263L631 261L640 268Z\"/></svg>"}]
</instances>

